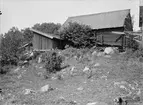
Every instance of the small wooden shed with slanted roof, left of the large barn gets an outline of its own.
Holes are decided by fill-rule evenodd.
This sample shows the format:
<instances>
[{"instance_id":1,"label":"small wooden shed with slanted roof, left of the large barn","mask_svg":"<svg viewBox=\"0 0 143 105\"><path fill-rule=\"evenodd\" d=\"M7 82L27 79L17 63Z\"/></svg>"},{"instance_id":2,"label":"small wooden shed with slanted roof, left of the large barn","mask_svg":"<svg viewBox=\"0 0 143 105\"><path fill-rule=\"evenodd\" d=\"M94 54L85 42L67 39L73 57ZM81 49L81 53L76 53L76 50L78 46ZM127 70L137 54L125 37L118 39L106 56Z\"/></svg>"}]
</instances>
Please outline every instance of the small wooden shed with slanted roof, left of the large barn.
<instances>
[{"instance_id":1,"label":"small wooden shed with slanted roof, left of the large barn","mask_svg":"<svg viewBox=\"0 0 143 105\"><path fill-rule=\"evenodd\" d=\"M31 31L34 33L32 41L34 51L62 48L60 36L43 33L35 29L31 29Z\"/></svg>"}]
</instances>

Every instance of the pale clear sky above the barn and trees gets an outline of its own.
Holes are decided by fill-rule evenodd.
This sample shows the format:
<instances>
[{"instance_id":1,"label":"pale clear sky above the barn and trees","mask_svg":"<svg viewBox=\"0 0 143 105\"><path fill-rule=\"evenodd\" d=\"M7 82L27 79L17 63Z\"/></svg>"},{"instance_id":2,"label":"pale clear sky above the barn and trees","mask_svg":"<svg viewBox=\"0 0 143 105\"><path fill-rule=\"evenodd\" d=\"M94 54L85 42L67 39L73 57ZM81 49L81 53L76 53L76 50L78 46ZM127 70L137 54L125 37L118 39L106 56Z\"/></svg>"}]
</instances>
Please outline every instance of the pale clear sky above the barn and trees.
<instances>
[{"instance_id":1,"label":"pale clear sky above the barn and trees","mask_svg":"<svg viewBox=\"0 0 143 105\"><path fill-rule=\"evenodd\" d=\"M0 0L0 33L36 23L63 24L70 16L131 9L138 21L139 0ZM138 22L135 23L138 30Z\"/></svg>"}]
</instances>

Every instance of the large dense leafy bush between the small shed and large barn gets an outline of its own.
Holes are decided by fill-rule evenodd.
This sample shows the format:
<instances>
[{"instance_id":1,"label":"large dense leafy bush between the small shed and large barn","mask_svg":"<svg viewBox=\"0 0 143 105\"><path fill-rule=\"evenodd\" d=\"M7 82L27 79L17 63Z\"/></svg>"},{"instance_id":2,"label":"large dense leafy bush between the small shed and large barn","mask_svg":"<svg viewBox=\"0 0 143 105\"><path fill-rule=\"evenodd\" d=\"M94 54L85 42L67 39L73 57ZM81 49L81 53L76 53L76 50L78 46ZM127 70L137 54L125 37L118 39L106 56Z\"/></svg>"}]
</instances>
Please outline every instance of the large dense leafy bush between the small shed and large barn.
<instances>
[{"instance_id":1,"label":"large dense leafy bush between the small shed and large barn","mask_svg":"<svg viewBox=\"0 0 143 105\"><path fill-rule=\"evenodd\" d=\"M64 27L59 34L63 40L72 42L72 46L76 48L91 47L95 45L94 34L87 25L69 23L69 25Z\"/></svg>"}]
</instances>

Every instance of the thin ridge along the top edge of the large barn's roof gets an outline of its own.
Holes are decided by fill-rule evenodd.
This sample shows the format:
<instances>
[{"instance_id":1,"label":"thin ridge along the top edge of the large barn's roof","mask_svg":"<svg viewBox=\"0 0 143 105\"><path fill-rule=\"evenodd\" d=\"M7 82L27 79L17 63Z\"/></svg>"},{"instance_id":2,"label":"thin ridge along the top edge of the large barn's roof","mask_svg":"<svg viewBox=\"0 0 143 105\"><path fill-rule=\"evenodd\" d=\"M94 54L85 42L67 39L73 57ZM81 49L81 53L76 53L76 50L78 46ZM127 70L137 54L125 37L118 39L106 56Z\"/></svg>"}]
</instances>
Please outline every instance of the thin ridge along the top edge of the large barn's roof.
<instances>
[{"instance_id":1,"label":"thin ridge along the top edge of the large barn's roof","mask_svg":"<svg viewBox=\"0 0 143 105\"><path fill-rule=\"evenodd\" d=\"M127 11L127 10L130 12L130 9L122 9L122 10L107 11L107 12L100 12L100 13L87 14L87 15L70 16L70 17L68 17L68 18L84 17L84 16L92 16L92 15L99 15L99 14L105 14L105 13L114 13L114 12Z\"/></svg>"}]
</instances>

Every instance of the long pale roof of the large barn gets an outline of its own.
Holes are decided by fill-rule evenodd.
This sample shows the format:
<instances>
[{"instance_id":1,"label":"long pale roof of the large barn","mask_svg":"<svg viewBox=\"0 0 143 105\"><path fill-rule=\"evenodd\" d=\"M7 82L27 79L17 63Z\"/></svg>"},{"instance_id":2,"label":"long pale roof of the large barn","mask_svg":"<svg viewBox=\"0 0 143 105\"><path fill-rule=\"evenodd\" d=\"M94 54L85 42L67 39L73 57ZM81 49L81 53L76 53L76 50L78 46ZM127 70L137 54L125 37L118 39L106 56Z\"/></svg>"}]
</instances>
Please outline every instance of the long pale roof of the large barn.
<instances>
[{"instance_id":1,"label":"long pale roof of the large barn","mask_svg":"<svg viewBox=\"0 0 143 105\"><path fill-rule=\"evenodd\" d=\"M130 9L104 12L98 14L69 17L62 27L68 26L69 22L89 25L92 29L123 27L124 21Z\"/></svg>"}]
</instances>

